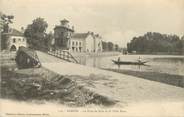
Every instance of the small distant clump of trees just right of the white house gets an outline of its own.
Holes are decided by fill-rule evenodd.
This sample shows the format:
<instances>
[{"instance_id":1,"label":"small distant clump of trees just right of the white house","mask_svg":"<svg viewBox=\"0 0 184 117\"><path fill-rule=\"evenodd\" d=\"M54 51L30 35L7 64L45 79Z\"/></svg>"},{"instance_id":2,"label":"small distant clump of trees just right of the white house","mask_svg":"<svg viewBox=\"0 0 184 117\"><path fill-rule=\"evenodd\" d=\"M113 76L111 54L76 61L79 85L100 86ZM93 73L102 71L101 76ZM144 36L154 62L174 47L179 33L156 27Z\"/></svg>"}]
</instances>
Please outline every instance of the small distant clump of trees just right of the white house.
<instances>
[{"instance_id":1,"label":"small distant clump of trees just right of the white house","mask_svg":"<svg viewBox=\"0 0 184 117\"><path fill-rule=\"evenodd\" d=\"M120 47L118 46L118 44L114 44L112 42L105 42L102 41L102 48L103 51L120 51Z\"/></svg>"}]
</instances>

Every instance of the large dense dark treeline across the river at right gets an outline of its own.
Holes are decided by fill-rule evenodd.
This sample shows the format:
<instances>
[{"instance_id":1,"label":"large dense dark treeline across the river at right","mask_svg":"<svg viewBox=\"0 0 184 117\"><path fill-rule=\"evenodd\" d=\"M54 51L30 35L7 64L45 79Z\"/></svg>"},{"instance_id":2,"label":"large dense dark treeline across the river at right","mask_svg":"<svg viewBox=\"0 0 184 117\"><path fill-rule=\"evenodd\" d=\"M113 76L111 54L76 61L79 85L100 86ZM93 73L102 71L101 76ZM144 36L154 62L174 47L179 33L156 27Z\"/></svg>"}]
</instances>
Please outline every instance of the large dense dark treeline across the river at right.
<instances>
[{"instance_id":1,"label":"large dense dark treeline across the river at right","mask_svg":"<svg viewBox=\"0 0 184 117\"><path fill-rule=\"evenodd\" d=\"M184 54L184 36L160 34L148 32L143 36L134 37L127 44L129 53L146 53L146 54Z\"/></svg>"}]
</instances>

